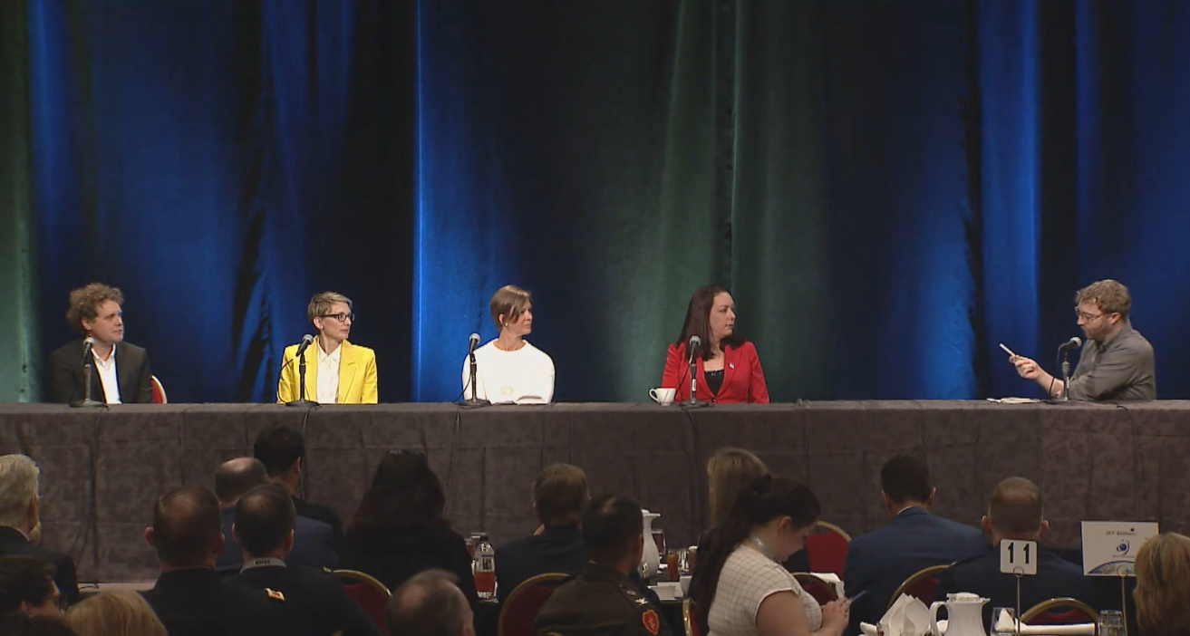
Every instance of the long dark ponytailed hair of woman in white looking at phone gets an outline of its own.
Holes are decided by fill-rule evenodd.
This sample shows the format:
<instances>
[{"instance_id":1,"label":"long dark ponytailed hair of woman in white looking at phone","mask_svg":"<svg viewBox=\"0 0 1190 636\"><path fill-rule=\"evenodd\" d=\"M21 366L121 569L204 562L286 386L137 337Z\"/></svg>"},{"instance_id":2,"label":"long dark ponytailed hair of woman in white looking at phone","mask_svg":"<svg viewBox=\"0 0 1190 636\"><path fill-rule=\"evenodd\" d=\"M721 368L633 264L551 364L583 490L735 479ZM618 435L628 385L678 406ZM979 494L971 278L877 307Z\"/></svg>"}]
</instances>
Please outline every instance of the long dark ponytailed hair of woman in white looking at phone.
<instances>
[{"instance_id":1,"label":"long dark ponytailed hair of woman in white looking at phone","mask_svg":"<svg viewBox=\"0 0 1190 636\"><path fill-rule=\"evenodd\" d=\"M794 529L802 529L818 523L821 512L814 491L794 479L764 476L740 492L727 519L712 534L706 554L699 550L699 567L690 581L693 596L699 599L696 619L704 634L719 574L735 546L756 528L776 519L784 524L788 517Z\"/></svg>"}]
</instances>

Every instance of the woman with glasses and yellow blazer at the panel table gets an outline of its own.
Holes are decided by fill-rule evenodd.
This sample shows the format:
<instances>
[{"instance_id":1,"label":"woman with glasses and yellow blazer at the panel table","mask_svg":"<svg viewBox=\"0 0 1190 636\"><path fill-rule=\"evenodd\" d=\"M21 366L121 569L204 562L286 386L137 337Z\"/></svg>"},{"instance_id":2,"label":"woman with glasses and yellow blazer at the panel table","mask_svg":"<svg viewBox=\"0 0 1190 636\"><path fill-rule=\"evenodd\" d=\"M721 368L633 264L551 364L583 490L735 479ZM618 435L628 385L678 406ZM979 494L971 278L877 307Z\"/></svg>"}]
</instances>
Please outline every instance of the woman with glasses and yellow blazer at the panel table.
<instances>
[{"instance_id":1,"label":"woman with glasses and yellow blazer at the panel table","mask_svg":"<svg viewBox=\"0 0 1190 636\"><path fill-rule=\"evenodd\" d=\"M324 291L309 300L306 315L318 329L314 344L306 347L306 399L319 404L375 404L376 352L347 341L355 314L351 298ZM286 347L277 383L277 403L299 398L298 372L300 360L294 360L299 345Z\"/></svg>"}]
</instances>

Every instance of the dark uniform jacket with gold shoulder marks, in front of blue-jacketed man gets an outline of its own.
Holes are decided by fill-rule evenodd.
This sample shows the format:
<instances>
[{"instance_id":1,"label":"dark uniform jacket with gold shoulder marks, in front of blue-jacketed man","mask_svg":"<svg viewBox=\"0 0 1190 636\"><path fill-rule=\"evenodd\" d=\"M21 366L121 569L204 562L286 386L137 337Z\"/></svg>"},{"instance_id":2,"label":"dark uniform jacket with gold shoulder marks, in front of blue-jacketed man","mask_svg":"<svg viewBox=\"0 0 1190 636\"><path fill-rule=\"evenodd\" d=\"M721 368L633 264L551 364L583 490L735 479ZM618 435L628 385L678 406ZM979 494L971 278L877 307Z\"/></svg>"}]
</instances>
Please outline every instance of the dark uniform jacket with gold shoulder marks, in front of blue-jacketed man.
<instances>
[{"instance_id":1,"label":"dark uniform jacket with gold shoulder marks, in front of blue-jacketed man","mask_svg":"<svg viewBox=\"0 0 1190 636\"><path fill-rule=\"evenodd\" d=\"M265 566L240 572L228 581L252 590L273 590L286 597L290 625L309 625L317 636L344 630L345 636L380 636L376 623L343 591L339 579L312 567Z\"/></svg>"}]
</instances>

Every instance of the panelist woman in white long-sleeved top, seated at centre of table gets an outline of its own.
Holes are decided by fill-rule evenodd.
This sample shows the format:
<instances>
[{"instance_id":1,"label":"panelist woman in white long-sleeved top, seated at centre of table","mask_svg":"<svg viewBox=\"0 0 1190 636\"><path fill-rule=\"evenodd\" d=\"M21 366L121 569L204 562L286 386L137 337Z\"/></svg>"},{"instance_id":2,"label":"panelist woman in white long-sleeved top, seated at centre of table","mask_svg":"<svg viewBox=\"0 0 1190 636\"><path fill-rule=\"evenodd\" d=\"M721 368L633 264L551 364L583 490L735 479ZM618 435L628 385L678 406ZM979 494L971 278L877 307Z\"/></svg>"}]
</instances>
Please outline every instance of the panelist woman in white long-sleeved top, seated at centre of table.
<instances>
[{"instance_id":1,"label":"panelist woman in white long-sleeved top, seated at centre of table","mask_svg":"<svg viewBox=\"0 0 1190 636\"><path fill-rule=\"evenodd\" d=\"M525 340L533 330L533 301L528 291L505 285L488 303L499 336L475 350L480 399L493 404L544 404L553 399L553 360ZM463 397L471 397L470 359L463 359Z\"/></svg>"}]
</instances>

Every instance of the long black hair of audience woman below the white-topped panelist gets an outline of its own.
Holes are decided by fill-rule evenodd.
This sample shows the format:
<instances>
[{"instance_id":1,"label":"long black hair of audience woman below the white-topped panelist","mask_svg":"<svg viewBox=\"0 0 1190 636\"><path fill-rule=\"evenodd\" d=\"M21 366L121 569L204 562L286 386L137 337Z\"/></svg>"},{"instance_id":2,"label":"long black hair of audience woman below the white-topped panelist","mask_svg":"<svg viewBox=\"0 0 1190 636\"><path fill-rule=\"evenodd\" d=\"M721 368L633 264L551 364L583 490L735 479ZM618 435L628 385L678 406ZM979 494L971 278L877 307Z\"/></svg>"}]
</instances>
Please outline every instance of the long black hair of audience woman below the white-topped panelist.
<instances>
[{"instance_id":1,"label":"long black hair of audience woman below the white-topped panelist","mask_svg":"<svg viewBox=\"0 0 1190 636\"><path fill-rule=\"evenodd\" d=\"M380 460L347 534L365 537L397 528L432 525L441 522L445 508L441 481L430 468L426 455L416 451L389 451Z\"/></svg>"}]
</instances>

